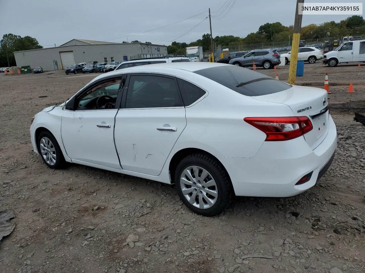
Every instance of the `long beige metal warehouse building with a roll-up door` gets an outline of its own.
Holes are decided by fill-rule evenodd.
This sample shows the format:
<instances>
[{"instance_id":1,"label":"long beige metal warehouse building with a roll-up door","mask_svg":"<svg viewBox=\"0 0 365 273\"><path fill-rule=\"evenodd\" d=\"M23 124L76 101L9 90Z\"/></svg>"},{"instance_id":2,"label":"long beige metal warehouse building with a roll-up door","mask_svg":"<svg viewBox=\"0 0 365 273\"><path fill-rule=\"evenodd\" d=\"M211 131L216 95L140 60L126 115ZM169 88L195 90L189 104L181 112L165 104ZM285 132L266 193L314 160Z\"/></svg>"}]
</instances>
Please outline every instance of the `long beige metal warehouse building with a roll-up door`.
<instances>
[{"instance_id":1,"label":"long beige metal warehouse building with a roll-up door","mask_svg":"<svg viewBox=\"0 0 365 273\"><path fill-rule=\"evenodd\" d=\"M41 66L43 70L61 70L75 63L97 61L123 62L134 58L167 56L167 46L146 43L109 43L73 39L59 47L14 52L16 66Z\"/></svg>"}]
</instances>

